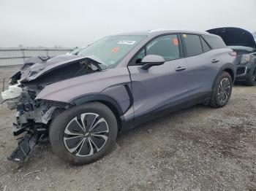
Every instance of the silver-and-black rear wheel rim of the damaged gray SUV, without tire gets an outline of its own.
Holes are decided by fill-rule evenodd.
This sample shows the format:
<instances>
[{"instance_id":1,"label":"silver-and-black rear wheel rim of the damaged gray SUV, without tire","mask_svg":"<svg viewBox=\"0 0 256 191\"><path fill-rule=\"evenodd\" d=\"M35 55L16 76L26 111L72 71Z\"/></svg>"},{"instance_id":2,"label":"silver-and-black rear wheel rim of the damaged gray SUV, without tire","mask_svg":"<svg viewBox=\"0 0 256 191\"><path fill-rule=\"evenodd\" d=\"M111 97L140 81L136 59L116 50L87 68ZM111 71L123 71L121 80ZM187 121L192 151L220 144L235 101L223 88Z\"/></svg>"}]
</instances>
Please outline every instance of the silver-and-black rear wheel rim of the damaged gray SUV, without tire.
<instances>
[{"instance_id":1,"label":"silver-and-black rear wheel rim of the damaged gray SUV, without tire","mask_svg":"<svg viewBox=\"0 0 256 191\"><path fill-rule=\"evenodd\" d=\"M230 79L223 78L219 83L217 98L220 104L224 104L230 97L231 84Z\"/></svg>"}]
</instances>

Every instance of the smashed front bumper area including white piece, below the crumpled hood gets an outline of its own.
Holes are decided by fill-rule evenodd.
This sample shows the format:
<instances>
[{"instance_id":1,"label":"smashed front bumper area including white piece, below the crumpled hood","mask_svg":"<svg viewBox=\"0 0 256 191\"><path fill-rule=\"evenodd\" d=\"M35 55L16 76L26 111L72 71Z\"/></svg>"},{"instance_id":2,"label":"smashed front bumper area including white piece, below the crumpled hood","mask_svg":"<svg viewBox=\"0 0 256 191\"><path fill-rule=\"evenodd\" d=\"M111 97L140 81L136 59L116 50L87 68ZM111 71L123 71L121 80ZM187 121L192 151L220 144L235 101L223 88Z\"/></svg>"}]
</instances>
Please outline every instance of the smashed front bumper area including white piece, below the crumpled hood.
<instances>
[{"instance_id":1,"label":"smashed front bumper area including white piece, below the crumpled hood","mask_svg":"<svg viewBox=\"0 0 256 191\"><path fill-rule=\"evenodd\" d=\"M42 100L35 101L34 95L18 85L10 85L1 95L9 109L17 109L13 135L18 136L18 147L7 159L24 163L48 136L48 123L56 106L49 106Z\"/></svg>"}]
</instances>

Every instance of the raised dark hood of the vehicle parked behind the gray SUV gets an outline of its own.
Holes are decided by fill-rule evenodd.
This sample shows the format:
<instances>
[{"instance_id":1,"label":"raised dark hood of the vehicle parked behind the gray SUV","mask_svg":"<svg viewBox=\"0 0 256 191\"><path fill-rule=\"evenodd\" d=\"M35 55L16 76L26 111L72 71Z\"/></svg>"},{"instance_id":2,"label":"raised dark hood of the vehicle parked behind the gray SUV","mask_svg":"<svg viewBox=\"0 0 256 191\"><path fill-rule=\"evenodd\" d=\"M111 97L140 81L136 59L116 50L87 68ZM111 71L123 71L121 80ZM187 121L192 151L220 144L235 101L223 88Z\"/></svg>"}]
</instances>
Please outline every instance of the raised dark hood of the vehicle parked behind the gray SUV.
<instances>
[{"instance_id":1,"label":"raised dark hood of the vehicle parked behind the gray SUV","mask_svg":"<svg viewBox=\"0 0 256 191\"><path fill-rule=\"evenodd\" d=\"M252 34L242 28L212 28L207 32L222 37L227 46L244 46L252 47L254 49L256 48L255 39L253 38Z\"/></svg>"}]
</instances>

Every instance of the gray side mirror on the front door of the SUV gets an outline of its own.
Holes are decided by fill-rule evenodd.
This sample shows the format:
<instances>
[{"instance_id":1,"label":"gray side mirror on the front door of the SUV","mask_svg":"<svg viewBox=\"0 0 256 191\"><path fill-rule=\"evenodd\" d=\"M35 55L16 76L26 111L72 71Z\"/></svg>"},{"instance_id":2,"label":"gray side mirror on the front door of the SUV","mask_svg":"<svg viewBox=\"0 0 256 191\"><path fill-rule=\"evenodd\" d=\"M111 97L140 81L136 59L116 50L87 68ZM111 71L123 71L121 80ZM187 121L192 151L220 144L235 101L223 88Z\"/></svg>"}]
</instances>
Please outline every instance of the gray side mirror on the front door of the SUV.
<instances>
[{"instance_id":1,"label":"gray side mirror on the front door of the SUV","mask_svg":"<svg viewBox=\"0 0 256 191\"><path fill-rule=\"evenodd\" d=\"M147 70L152 66L159 66L165 63L165 59L160 55L146 55L141 61L143 66L140 69Z\"/></svg>"}]
</instances>

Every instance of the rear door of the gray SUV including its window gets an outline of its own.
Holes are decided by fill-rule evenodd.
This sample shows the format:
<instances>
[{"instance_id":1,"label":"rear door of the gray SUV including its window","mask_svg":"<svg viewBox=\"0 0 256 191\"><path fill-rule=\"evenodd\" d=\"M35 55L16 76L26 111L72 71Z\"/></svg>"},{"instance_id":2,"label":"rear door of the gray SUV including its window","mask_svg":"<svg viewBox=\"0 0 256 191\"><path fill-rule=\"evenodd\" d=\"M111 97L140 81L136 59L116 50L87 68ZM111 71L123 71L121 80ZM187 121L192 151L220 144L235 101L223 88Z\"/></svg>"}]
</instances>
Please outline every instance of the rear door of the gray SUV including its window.
<instances>
[{"instance_id":1,"label":"rear door of the gray SUV including its window","mask_svg":"<svg viewBox=\"0 0 256 191\"><path fill-rule=\"evenodd\" d=\"M202 36L197 34L181 34L184 42L184 54L187 61L187 79L189 95L204 96L211 93L211 87L217 75L221 56L212 50Z\"/></svg>"}]
</instances>

